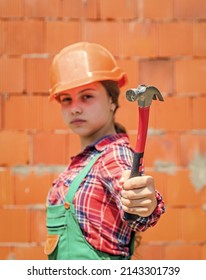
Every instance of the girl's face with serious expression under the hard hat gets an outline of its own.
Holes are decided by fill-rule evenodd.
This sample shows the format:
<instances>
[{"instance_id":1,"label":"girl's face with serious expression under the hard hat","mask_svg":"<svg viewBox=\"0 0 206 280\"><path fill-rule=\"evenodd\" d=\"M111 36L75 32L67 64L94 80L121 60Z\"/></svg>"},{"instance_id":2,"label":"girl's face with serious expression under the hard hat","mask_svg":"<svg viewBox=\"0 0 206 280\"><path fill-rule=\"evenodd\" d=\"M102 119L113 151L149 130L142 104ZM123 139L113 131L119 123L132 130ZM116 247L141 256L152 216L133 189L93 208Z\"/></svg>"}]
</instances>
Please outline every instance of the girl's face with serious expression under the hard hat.
<instances>
[{"instance_id":1,"label":"girl's face with serious expression under the hard hat","mask_svg":"<svg viewBox=\"0 0 206 280\"><path fill-rule=\"evenodd\" d=\"M115 105L100 82L93 82L61 93L65 123L82 138L98 140L114 133Z\"/></svg>"}]
</instances>

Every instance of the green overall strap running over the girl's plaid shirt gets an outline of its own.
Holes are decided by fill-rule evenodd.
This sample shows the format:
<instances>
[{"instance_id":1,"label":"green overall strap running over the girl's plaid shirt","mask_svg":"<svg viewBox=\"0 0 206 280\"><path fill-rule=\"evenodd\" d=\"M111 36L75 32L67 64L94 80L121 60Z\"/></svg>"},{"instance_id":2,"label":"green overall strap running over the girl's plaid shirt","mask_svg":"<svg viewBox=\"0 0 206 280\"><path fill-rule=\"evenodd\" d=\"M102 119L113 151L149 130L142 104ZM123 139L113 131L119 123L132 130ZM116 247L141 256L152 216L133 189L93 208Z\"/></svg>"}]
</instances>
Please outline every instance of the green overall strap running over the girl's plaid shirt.
<instances>
[{"instance_id":1,"label":"green overall strap running over the girl's plaid shirt","mask_svg":"<svg viewBox=\"0 0 206 280\"><path fill-rule=\"evenodd\" d=\"M79 188L81 182L84 180L84 178L86 177L86 175L88 174L88 172L90 171L90 169L92 168L92 166L94 165L96 160L100 157L100 155L101 155L101 153L98 153L97 155L95 155L90 160L90 162L74 178L71 185L69 186L69 190L68 190L67 195L65 197L65 201L68 201L68 202L72 203L72 201L74 199L74 196L75 196L75 193L76 193L77 189Z\"/></svg>"}]
</instances>

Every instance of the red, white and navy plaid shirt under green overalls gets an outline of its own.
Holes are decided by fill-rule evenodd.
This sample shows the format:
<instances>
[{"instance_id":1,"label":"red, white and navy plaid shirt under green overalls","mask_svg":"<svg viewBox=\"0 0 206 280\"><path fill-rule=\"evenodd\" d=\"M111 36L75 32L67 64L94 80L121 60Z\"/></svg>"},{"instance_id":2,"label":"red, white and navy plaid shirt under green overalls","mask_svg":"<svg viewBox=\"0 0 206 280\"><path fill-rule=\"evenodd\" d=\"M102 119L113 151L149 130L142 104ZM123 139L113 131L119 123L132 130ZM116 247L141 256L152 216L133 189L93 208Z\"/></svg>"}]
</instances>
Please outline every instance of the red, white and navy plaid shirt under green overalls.
<instances>
[{"instance_id":1,"label":"red, white and navy plaid shirt under green overalls","mask_svg":"<svg viewBox=\"0 0 206 280\"><path fill-rule=\"evenodd\" d=\"M102 155L75 194L76 216L84 237L94 248L113 255L128 256L131 232L145 231L154 226L164 213L164 203L156 191L158 205L152 215L138 217L134 222L123 221L119 179L125 169L131 169L133 159L126 134L104 137L72 157L70 165L53 183L48 204L64 203L72 180L99 152Z\"/></svg>"}]
</instances>

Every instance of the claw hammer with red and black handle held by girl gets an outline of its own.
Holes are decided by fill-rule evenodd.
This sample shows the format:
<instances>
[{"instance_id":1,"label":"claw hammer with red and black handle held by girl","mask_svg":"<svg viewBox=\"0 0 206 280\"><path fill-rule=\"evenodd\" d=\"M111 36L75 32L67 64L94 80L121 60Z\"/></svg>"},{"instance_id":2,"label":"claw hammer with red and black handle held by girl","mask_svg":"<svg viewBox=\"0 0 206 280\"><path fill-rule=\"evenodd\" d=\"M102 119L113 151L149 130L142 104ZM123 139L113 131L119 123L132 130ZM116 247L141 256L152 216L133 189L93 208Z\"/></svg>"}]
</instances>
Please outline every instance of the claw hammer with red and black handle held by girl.
<instances>
[{"instance_id":1,"label":"claw hammer with red and black handle held by girl","mask_svg":"<svg viewBox=\"0 0 206 280\"><path fill-rule=\"evenodd\" d=\"M143 156L152 100L159 99L160 101L164 101L164 99L156 87L148 85L139 85L135 89L132 88L127 90L126 98L130 102L137 100L139 108L138 133L134 150L132 170L130 174L130 178L132 178L143 175ZM137 219L137 215L124 212L123 219L126 221L135 221Z\"/></svg>"}]
</instances>

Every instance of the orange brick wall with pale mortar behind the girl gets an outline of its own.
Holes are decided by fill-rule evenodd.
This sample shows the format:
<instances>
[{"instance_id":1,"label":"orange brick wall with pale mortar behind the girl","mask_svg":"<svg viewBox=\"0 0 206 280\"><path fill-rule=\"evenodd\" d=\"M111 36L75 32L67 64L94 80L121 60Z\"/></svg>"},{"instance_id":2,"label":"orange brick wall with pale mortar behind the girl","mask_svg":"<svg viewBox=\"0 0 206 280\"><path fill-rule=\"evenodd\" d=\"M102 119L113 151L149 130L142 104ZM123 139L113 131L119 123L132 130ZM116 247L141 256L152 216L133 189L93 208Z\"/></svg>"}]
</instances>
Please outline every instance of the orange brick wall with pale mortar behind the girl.
<instances>
[{"instance_id":1,"label":"orange brick wall with pale mortar behind the girl","mask_svg":"<svg viewBox=\"0 0 206 280\"><path fill-rule=\"evenodd\" d=\"M206 259L206 1L0 0L0 34L0 259L46 259L46 194L80 148L48 102L49 66L80 40L115 55L127 88L165 98L151 107L145 169L167 212L134 258ZM120 103L135 145L137 106Z\"/></svg>"}]
</instances>

